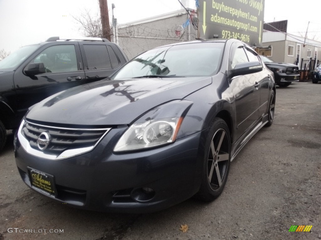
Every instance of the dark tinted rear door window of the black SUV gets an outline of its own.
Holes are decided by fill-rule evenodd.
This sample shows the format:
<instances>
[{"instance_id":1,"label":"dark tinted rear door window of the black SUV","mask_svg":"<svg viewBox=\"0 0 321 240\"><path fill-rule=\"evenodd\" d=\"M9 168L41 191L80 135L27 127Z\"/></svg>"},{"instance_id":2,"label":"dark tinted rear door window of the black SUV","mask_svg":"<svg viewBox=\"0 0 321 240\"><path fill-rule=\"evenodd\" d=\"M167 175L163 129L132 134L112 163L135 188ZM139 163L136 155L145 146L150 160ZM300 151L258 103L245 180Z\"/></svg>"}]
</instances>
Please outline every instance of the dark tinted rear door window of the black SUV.
<instances>
[{"instance_id":1,"label":"dark tinted rear door window of the black SUV","mask_svg":"<svg viewBox=\"0 0 321 240\"><path fill-rule=\"evenodd\" d=\"M106 45L84 44L87 58L87 69L111 68L111 62Z\"/></svg>"}]
</instances>

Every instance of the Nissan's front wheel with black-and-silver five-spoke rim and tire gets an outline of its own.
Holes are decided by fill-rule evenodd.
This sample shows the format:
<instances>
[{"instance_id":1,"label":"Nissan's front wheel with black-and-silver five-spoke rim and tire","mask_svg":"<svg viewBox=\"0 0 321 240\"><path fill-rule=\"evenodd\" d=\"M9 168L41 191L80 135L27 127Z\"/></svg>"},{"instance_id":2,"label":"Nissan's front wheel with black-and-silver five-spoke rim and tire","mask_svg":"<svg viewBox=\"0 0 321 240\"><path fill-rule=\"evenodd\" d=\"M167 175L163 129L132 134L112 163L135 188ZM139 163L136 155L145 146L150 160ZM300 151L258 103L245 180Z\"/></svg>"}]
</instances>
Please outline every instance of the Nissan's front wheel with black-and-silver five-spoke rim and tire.
<instances>
[{"instance_id":1,"label":"Nissan's front wheel with black-and-silver five-spoke rim and tire","mask_svg":"<svg viewBox=\"0 0 321 240\"><path fill-rule=\"evenodd\" d=\"M214 118L205 145L203 178L196 197L212 201L223 191L230 169L230 131L221 118Z\"/></svg>"}]
</instances>

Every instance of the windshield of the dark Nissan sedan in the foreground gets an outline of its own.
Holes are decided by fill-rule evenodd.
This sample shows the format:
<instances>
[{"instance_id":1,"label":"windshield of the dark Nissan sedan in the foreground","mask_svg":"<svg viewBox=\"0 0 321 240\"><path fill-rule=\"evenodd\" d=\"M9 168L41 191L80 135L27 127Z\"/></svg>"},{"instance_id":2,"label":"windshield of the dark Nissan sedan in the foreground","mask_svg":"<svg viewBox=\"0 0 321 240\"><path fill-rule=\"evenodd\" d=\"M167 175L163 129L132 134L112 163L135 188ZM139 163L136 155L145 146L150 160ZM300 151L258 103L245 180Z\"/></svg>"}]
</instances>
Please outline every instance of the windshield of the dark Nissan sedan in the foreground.
<instances>
[{"instance_id":1,"label":"windshield of the dark Nissan sedan in the foreground","mask_svg":"<svg viewBox=\"0 0 321 240\"><path fill-rule=\"evenodd\" d=\"M135 57L111 79L212 76L221 64L224 43L164 46Z\"/></svg>"}]
</instances>

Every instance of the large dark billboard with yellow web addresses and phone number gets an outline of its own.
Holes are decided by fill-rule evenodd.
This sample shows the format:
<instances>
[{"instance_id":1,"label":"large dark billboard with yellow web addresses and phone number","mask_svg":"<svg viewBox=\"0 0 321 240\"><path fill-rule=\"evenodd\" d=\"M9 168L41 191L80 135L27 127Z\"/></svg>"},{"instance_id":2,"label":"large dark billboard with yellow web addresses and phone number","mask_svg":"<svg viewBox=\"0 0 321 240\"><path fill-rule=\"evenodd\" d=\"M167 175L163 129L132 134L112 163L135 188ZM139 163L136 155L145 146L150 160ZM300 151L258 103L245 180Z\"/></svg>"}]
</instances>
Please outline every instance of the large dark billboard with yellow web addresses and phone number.
<instances>
[{"instance_id":1,"label":"large dark billboard with yellow web addresses and phone number","mask_svg":"<svg viewBox=\"0 0 321 240\"><path fill-rule=\"evenodd\" d=\"M199 38L235 38L260 45L264 0L206 0L199 2Z\"/></svg>"}]
</instances>

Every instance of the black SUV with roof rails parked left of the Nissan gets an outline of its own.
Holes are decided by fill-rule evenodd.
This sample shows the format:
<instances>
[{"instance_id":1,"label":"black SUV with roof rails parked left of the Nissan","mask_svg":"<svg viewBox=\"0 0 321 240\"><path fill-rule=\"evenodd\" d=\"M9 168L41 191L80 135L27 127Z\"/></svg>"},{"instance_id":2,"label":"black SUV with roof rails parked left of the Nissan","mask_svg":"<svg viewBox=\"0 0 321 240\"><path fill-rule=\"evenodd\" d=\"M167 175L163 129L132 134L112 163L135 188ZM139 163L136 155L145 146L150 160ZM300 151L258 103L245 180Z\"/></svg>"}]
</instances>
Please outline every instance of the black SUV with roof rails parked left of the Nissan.
<instances>
[{"instance_id":1,"label":"black SUV with roof rails parked left of the Nissan","mask_svg":"<svg viewBox=\"0 0 321 240\"><path fill-rule=\"evenodd\" d=\"M101 80L128 61L105 38L60 39L28 45L0 61L0 151L35 103L68 88Z\"/></svg>"}]
</instances>

